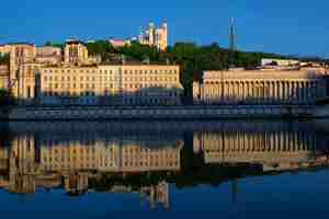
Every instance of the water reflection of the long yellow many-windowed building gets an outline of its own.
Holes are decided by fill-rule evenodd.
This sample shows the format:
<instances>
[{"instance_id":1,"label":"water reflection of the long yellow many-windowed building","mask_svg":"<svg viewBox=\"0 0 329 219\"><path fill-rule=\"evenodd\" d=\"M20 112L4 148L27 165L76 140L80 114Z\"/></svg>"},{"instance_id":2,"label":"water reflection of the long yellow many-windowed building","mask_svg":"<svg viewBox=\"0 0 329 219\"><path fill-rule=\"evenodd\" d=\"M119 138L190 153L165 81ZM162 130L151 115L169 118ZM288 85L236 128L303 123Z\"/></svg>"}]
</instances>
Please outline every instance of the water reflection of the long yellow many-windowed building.
<instances>
[{"instance_id":1,"label":"water reflection of the long yellow many-windowed building","mask_svg":"<svg viewBox=\"0 0 329 219\"><path fill-rule=\"evenodd\" d=\"M41 147L41 170L61 173L179 171L182 147L182 142L147 148L137 141L83 143L48 140Z\"/></svg>"}]
</instances>

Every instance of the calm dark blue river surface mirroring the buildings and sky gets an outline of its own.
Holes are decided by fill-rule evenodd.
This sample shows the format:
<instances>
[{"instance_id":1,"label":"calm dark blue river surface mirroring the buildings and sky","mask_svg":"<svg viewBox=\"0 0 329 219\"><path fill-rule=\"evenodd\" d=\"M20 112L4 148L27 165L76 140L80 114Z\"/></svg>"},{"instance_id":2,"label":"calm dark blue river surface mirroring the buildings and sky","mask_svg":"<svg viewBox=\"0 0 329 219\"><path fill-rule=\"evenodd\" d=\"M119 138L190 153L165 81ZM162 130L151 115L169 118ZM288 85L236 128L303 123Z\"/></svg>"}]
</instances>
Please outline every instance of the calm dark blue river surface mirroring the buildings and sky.
<instances>
[{"instance_id":1,"label":"calm dark blue river surface mirroring the buildings and sky","mask_svg":"<svg viewBox=\"0 0 329 219\"><path fill-rule=\"evenodd\" d=\"M326 218L329 122L0 124L1 218Z\"/></svg>"}]
</instances>

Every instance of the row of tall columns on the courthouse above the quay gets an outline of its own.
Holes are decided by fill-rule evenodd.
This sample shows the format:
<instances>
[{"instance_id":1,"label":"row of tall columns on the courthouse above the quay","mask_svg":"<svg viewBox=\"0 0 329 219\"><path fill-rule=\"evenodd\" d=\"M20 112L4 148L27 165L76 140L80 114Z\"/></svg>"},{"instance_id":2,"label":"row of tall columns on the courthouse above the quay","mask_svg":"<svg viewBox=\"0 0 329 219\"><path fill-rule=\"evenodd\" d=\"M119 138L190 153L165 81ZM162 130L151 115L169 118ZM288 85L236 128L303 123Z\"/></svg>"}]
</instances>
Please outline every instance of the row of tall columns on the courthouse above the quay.
<instances>
[{"instance_id":1,"label":"row of tall columns on the courthouse above the quay","mask_svg":"<svg viewBox=\"0 0 329 219\"><path fill-rule=\"evenodd\" d=\"M200 102L205 104L311 104L325 95L320 80L217 81L200 85ZM195 97L195 96L194 96Z\"/></svg>"}]
</instances>

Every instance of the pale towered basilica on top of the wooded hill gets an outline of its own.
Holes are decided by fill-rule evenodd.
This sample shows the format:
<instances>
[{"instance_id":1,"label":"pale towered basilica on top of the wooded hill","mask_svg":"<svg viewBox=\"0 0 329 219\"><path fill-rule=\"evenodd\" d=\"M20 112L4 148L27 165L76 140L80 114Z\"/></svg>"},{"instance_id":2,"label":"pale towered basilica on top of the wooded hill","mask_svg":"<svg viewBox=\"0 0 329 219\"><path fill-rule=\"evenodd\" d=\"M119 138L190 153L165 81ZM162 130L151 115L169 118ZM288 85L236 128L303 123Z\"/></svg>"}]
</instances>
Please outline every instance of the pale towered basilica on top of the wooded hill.
<instances>
[{"instance_id":1,"label":"pale towered basilica on top of the wooded hill","mask_svg":"<svg viewBox=\"0 0 329 219\"><path fill-rule=\"evenodd\" d=\"M150 22L148 28L141 27L138 37L141 45L155 46L159 50L166 50L168 46L168 24L164 21L160 27L156 27L155 23Z\"/></svg>"}]
</instances>

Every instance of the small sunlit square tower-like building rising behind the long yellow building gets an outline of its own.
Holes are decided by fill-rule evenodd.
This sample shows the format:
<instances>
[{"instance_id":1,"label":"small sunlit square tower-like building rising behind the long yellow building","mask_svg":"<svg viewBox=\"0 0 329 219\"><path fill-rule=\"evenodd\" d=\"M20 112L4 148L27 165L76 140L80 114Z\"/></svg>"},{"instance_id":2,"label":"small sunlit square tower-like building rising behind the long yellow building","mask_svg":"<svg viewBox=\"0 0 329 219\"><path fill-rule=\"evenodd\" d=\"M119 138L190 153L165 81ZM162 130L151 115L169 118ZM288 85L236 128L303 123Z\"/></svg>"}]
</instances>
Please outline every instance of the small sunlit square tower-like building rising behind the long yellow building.
<instances>
[{"instance_id":1,"label":"small sunlit square tower-like building rising behind the long yellow building","mask_svg":"<svg viewBox=\"0 0 329 219\"><path fill-rule=\"evenodd\" d=\"M64 61L72 65L83 65L88 62L88 49L83 42L68 39L64 47Z\"/></svg>"}]
</instances>

